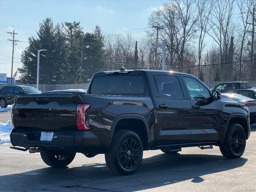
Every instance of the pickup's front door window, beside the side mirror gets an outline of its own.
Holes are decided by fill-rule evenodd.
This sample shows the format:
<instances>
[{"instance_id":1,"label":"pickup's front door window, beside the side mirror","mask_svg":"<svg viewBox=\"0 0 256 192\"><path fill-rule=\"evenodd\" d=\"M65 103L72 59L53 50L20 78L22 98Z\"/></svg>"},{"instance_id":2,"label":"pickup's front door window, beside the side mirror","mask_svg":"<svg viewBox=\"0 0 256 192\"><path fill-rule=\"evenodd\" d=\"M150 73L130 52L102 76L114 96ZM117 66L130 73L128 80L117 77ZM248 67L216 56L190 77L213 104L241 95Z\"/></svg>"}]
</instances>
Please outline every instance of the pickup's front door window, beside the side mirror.
<instances>
[{"instance_id":1,"label":"pickup's front door window, beside the side mirror","mask_svg":"<svg viewBox=\"0 0 256 192\"><path fill-rule=\"evenodd\" d=\"M197 80L190 77L183 77L192 100L208 100L210 92Z\"/></svg>"}]
</instances>

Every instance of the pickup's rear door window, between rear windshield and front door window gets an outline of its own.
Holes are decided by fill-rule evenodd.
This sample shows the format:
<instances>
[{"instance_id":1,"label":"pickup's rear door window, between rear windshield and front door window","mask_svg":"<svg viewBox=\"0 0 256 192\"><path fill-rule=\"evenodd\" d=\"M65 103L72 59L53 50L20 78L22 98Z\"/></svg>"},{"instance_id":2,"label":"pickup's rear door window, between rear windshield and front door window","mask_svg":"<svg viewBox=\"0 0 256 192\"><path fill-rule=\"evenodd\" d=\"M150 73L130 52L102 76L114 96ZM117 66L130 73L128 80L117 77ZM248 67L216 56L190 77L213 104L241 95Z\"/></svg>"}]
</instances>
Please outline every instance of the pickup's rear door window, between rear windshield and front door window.
<instances>
[{"instance_id":1,"label":"pickup's rear door window, between rear windshield and front door window","mask_svg":"<svg viewBox=\"0 0 256 192\"><path fill-rule=\"evenodd\" d=\"M155 75L158 93L171 99L184 99L180 82L176 76Z\"/></svg>"}]
</instances>

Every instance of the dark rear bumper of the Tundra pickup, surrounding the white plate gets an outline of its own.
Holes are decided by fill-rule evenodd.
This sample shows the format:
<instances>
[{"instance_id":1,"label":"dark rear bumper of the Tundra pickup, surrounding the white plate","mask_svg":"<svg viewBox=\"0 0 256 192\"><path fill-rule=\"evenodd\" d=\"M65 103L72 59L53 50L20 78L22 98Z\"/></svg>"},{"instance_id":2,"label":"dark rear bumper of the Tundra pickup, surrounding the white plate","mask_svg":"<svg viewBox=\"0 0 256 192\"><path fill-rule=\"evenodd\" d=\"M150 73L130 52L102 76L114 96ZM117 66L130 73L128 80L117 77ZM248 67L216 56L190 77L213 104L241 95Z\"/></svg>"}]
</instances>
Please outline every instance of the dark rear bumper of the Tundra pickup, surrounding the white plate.
<instances>
[{"instance_id":1,"label":"dark rear bumper of the Tundra pickup, surrounding the white plate","mask_svg":"<svg viewBox=\"0 0 256 192\"><path fill-rule=\"evenodd\" d=\"M54 132L52 141L40 141L41 132L12 129L10 140L13 146L40 148L42 150L70 150L92 152L101 149L100 139L90 131Z\"/></svg>"}]
</instances>

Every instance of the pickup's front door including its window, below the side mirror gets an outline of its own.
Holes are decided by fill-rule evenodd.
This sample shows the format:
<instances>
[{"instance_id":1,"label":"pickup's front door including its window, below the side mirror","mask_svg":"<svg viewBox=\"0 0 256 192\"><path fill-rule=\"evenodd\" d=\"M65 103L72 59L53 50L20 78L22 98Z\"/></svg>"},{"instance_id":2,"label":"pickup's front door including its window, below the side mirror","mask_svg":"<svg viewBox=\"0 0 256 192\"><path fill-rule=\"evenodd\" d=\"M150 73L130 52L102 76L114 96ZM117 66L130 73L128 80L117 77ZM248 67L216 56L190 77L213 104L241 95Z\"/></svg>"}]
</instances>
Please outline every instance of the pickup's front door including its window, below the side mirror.
<instances>
[{"instance_id":1,"label":"pickup's front door including its window, below the side mirror","mask_svg":"<svg viewBox=\"0 0 256 192\"><path fill-rule=\"evenodd\" d=\"M218 140L224 130L220 101L213 100L210 89L196 78L184 75L182 80L193 111L191 141Z\"/></svg>"}]
</instances>

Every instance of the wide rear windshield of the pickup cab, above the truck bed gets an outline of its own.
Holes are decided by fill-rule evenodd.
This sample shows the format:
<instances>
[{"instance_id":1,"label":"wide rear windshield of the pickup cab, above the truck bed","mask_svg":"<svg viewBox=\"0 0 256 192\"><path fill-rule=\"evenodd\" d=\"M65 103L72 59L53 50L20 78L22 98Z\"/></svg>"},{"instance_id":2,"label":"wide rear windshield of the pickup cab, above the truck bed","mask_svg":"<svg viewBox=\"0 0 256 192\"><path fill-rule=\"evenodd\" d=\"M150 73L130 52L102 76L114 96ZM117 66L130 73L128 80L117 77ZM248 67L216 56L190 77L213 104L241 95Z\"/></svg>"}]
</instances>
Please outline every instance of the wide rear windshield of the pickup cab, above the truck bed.
<instances>
[{"instance_id":1,"label":"wide rear windshield of the pickup cab, above the truck bed","mask_svg":"<svg viewBox=\"0 0 256 192\"><path fill-rule=\"evenodd\" d=\"M115 75L95 77L90 94L144 95L144 83L139 75Z\"/></svg>"}]
</instances>

